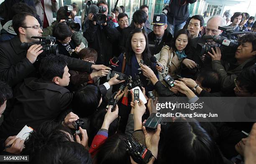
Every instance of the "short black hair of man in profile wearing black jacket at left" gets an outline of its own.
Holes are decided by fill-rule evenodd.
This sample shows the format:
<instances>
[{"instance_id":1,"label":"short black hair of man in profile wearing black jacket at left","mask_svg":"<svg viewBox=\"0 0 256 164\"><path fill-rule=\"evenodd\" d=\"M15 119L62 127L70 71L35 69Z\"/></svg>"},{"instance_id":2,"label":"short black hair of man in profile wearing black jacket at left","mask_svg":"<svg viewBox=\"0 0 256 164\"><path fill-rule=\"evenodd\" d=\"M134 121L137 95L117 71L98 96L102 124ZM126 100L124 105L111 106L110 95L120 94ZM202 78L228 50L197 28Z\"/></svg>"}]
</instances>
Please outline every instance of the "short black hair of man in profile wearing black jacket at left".
<instances>
[{"instance_id":1,"label":"short black hair of man in profile wearing black jacket at left","mask_svg":"<svg viewBox=\"0 0 256 164\"><path fill-rule=\"evenodd\" d=\"M63 57L56 55L46 56L41 60L39 66L41 78L46 81L52 81L55 76L62 78L66 66L67 62Z\"/></svg>"}]
</instances>

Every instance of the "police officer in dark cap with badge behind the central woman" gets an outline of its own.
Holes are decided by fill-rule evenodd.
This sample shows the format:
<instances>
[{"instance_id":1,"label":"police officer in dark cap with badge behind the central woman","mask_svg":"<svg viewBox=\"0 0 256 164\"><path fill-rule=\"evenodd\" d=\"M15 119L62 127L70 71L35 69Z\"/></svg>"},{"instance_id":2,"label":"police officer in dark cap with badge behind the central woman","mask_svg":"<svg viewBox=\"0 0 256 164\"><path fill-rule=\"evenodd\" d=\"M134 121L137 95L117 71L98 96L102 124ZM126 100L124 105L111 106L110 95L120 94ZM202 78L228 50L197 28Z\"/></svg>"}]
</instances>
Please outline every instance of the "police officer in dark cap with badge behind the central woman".
<instances>
[{"instance_id":1,"label":"police officer in dark cap with badge behind the central woman","mask_svg":"<svg viewBox=\"0 0 256 164\"><path fill-rule=\"evenodd\" d=\"M151 55L155 55L161 51L163 45L169 45L172 40L172 34L166 30L166 15L154 15L153 23L151 23L151 25L154 26L153 31L148 34L148 43Z\"/></svg>"}]
</instances>

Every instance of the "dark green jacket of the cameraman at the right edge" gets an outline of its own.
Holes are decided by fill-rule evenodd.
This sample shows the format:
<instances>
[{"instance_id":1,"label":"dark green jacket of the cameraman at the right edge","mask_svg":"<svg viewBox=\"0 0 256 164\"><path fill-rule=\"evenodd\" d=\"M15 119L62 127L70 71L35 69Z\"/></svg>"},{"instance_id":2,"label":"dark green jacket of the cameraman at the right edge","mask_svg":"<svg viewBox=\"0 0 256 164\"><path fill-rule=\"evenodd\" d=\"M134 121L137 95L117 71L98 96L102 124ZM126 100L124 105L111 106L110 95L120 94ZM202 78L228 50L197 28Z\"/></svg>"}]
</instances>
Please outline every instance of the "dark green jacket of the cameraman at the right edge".
<instances>
[{"instance_id":1,"label":"dark green jacket of the cameraman at the right edge","mask_svg":"<svg viewBox=\"0 0 256 164\"><path fill-rule=\"evenodd\" d=\"M220 76L222 90L229 91L235 87L234 79L243 71L243 68L253 65L253 63L255 63L255 58L248 59L242 64L237 65L236 68L230 69L230 64L226 63L223 66L221 61L216 60L212 61L212 69L217 71Z\"/></svg>"}]
</instances>

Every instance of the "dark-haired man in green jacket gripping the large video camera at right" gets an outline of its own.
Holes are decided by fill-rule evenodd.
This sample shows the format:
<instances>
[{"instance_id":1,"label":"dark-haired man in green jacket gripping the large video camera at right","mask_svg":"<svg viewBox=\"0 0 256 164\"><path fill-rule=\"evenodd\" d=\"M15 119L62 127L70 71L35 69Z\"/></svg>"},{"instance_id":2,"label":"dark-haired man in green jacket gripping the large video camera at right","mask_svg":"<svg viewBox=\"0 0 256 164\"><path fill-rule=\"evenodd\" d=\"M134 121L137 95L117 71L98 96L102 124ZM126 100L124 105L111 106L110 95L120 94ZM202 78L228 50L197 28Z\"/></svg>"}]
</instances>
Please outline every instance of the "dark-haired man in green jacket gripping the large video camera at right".
<instances>
[{"instance_id":1,"label":"dark-haired man in green jacket gripping the large video camera at right","mask_svg":"<svg viewBox=\"0 0 256 164\"><path fill-rule=\"evenodd\" d=\"M212 48L208 55L212 58L212 69L217 71L221 79L222 90L230 93L235 87L234 79L247 67L256 63L256 34L248 33L239 38L241 45L238 46L235 63L221 63L220 48ZM223 61L224 62L224 61Z\"/></svg>"}]
</instances>

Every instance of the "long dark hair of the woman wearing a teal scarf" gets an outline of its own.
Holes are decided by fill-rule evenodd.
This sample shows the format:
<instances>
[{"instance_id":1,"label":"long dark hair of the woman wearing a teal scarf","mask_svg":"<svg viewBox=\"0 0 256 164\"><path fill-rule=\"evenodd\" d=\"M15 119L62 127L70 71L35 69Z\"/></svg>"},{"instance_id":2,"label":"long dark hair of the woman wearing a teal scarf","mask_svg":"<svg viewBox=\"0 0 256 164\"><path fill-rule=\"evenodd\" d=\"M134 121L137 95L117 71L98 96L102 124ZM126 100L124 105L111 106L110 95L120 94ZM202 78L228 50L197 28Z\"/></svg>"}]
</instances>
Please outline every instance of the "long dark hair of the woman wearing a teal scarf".
<instances>
[{"instance_id":1,"label":"long dark hair of the woman wearing a teal scarf","mask_svg":"<svg viewBox=\"0 0 256 164\"><path fill-rule=\"evenodd\" d=\"M176 42L176 39L179 37L179 35L181 34L185 34L187 35L187 46L184 48L184 51L185 51L185 54L187 54L191 48L191 35L189 33L188 30L186 29L181 29L179 30L177 33L175 33L174 35L174 38L172 39L172 42L171 42L171 46L172 46L172 49L173 50L177 50L176 46L175 46L175 42Z\"/></svg>"}]
</instances>

